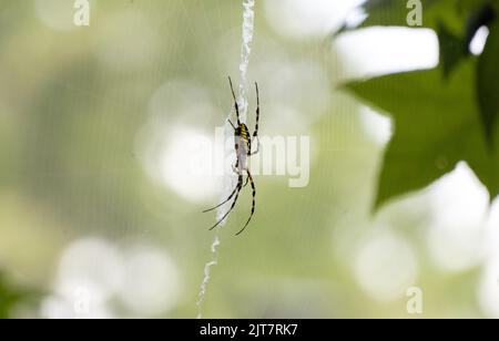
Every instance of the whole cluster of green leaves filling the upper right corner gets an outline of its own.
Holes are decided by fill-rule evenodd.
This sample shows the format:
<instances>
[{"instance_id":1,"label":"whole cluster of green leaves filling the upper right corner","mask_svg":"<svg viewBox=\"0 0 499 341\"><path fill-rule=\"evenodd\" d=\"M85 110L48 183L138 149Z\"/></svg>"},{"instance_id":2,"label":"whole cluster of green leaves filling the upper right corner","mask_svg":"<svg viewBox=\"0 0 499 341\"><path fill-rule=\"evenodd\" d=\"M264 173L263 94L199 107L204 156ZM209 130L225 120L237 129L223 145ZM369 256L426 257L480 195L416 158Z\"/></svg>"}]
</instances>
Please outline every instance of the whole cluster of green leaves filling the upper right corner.
<instances>
[{"instance_id":1,"label":"whole cluster of green leaves filling the upper right corner","mask_svg":"<svg viewBox=\"0 0 499 341\"><path fill-rule=\"evenodd\" d=\"M368 17L357 28L406 27L406 1L367 1L364 9ZM497 8L496 0L422 1L422 27L438 32L439 66L348 86L395 118L396 132L379 175L376 207L428 186L460 161L470 165L491 198L499 194ZM475 58L469 44L482 27L489 28L490 35L483 53ZM409 173L414 176L407 177Z\"/></svg>"}]
</instances>

